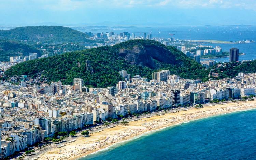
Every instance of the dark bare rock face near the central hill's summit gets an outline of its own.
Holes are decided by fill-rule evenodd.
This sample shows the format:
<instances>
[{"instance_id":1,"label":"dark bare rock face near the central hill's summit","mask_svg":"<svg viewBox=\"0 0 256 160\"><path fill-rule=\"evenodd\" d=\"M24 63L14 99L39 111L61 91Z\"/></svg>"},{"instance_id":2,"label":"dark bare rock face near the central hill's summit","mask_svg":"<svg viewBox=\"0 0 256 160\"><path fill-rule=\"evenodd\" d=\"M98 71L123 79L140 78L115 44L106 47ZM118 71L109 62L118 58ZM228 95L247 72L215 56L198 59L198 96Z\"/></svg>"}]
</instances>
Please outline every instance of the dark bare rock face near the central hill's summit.
<instances>
[{"instance_id":1,"label":"dark bare rock face near the central hill's summit","mask_svg":"<svg viewBox=\"0 0 256 160\"><path fill-rule=\"evenodd\" d=\"M157 68L154 59L174 65L180 63L169 50L161 46L133 46L129 49L120 49L118 54L132 65L147 66L152 69Z\"/></svg>"}]
</instances>

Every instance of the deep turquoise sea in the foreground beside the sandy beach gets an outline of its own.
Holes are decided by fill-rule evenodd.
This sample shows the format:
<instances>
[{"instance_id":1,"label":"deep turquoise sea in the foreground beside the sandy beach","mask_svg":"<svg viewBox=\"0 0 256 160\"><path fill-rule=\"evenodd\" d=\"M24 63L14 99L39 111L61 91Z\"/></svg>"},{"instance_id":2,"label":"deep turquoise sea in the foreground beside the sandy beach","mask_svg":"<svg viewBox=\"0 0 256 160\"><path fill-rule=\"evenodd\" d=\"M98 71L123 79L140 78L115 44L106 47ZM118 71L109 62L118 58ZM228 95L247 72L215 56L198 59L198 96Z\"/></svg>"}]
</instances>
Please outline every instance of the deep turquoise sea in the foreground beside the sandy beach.
<instances>
[{"instance_id":1,"label":"deep turquoise sea in the foreground beside the sandy beach","mask_svg":"<svg viewBox=\"0 0 256 160\"><path fill-rule=\"evenodd\" d=\"M256 159L256 110L165 128L81 160Z\"/></svg>"}]
</instances>

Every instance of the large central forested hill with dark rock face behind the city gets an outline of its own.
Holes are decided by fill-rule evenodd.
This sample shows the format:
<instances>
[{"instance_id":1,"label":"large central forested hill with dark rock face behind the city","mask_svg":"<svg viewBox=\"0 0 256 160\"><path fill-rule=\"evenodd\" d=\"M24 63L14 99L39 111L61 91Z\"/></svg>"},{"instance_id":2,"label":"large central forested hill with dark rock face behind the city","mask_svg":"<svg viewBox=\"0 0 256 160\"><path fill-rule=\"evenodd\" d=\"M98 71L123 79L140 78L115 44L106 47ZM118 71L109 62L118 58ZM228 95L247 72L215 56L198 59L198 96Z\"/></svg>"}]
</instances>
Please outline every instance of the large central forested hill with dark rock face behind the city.
<instances>
[{"instance_id":1,"label":"large central forested hill with dark rock face behind the city","mask_svg":"<svg viewBox=\"0 0 256 160\"><path fill-rule=\"evenodd\" d=\"M208 70L174 47L153 40L129 40L115 46L68 52L48 58L31 60L12 66L7 76L37 76L47 81L61 80L72 84L83 78L85 85L114 86L122 79L118 71L127 70L131 76L140 74L151 79L154 71L168 69L182 78L208 78Z\"/></svg>"}]
</instances>

